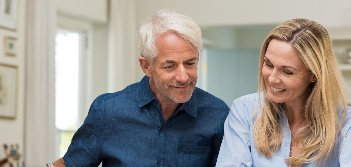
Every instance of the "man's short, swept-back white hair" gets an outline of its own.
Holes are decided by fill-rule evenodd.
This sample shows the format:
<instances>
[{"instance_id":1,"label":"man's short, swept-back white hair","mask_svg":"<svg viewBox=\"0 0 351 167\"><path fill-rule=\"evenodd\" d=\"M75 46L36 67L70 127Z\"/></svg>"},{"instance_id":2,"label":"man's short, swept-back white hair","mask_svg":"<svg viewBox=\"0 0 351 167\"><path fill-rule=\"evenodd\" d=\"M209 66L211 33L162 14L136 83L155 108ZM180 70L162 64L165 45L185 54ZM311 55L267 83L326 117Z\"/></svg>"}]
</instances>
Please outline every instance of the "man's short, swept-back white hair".
<instances>
[{"instance_id":1,"label":"man's short, swept-back white hair","mask_svg":"<svg viewBox=\"0 0 351 167\"><path fill-rule=\"evenodd\" d=\"M149 62L158 55L155 42L165 32L175 32L189 42L197 53L202 48L200 27L188 16L173 9L161 9L141 21L137 32L140 55Z\"/></svg>"}]
</instances>

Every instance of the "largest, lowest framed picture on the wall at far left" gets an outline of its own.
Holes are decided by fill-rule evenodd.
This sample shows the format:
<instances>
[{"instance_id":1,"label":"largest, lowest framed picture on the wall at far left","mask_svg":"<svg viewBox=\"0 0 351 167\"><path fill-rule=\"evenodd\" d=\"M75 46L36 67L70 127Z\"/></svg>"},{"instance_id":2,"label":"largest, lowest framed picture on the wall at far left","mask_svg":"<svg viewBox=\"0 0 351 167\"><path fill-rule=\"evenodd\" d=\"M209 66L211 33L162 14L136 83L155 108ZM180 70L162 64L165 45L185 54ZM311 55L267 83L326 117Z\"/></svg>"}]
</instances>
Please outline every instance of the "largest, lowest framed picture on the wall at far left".
<instances>
[{"instance_id":1,"label":"largest, lowest framed picture on the wall at far left","mask_svg":"<svg viewBox=\"0 0 351 167\"><path fill-rule=\"evenodd\" d=\"M0 118L15 119L18 103L18 67L0 63Z\"/></svg>"}]
</instances>

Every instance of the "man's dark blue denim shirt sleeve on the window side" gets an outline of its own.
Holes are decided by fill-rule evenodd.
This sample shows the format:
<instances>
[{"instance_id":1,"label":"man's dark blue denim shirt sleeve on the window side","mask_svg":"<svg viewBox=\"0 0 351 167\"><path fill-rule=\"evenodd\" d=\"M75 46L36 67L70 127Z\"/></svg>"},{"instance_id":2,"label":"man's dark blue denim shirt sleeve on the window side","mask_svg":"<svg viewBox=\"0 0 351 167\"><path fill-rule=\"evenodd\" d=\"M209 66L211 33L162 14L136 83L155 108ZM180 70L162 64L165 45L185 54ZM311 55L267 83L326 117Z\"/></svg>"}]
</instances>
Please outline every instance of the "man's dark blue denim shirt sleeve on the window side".
<instances>
[{"instance_id":1,"label":"man's dark blue denim shirt sleeve on the window side","mask_svg":"<svg viewBox=\"0 0 351 167\"><path fill-rule=\"evenodd\" d=\"M83 125L73 135L71 145L64 155L67 167L97 167L102 161L99 156L102 143L101 122L95 102L96 100Z\"/></svg>"}]
</instances>

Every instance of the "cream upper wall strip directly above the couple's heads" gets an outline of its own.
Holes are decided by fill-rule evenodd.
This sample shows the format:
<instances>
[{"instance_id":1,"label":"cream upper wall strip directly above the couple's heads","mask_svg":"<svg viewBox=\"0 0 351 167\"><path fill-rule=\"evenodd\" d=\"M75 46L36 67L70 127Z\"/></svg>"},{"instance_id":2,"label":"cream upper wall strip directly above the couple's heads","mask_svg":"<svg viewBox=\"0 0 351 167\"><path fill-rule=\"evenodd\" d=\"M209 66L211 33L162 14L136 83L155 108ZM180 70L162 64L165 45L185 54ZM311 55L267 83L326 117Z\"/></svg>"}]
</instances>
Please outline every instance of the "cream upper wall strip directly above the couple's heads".
<instances>
[{"instance_id":1,"label":"cream upper wall strip directly above the couple's heads","mask_svg":"<svg viewBox=\"0 0 351 167\"><path fill-rule=\"evenodd\" d=\"M351 26L350 0L135 0L137 17L174 8L200 26L276 24L309 18L330 26Z\"/></svg>"}]
</instances>

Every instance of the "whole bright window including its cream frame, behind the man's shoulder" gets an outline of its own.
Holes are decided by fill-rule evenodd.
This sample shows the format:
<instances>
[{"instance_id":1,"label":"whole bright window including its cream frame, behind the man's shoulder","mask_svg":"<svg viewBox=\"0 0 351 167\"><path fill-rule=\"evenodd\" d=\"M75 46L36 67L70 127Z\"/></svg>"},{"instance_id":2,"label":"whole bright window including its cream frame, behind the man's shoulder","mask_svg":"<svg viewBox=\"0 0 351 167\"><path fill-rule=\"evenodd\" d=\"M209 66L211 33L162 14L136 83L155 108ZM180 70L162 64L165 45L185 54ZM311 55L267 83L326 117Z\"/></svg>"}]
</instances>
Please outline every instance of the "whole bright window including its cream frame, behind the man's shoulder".
<instances>
[{"instance_id":1,"label":"whole bright window including its cream frame, behind the man's shoulder","mask_svg":"<svg viewBox=\"0 0 351 167\"><path fill-rule=\"evenodd\" d=\"M92 25L58 17L55 37L56 158L62 158L90 106Z\"/></svg>"}]
</instances>

